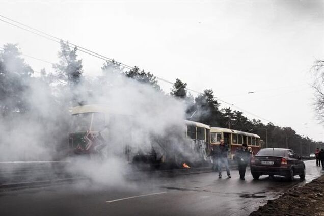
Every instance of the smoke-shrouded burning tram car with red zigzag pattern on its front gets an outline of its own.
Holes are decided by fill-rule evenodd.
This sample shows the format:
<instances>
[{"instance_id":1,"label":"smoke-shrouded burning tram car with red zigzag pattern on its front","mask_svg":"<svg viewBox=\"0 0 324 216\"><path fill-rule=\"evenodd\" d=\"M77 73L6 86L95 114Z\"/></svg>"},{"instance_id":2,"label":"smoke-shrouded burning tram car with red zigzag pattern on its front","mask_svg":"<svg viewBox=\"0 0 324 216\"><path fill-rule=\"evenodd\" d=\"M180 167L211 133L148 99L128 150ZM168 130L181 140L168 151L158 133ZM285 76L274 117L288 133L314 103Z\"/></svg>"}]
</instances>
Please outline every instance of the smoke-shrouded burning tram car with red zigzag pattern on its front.
<instances>
[{"instance_id":1,"label":"smoke-shrouded burning tram car with red zigzag pattern on its front","mask_svg":"<svg viewBox=\"0 0 324 216\"><path fill-rule=\"evenodd\" d=\"M105 106L76 106L71 114L72 125L68 133L70 156L104 158L111 154L124 157L128 162L178 165L189 162L194 154L196 160L208 159L210 127L199 122L185 121L185 128L170 126L169 134L160 137L147 134L148 131L136 125L131 115ZM181 135L183 132L185 136ZM149 139L139 138L141 136ZM183 156L184 149L187 158Z\"/></svg>"}]
</instances>

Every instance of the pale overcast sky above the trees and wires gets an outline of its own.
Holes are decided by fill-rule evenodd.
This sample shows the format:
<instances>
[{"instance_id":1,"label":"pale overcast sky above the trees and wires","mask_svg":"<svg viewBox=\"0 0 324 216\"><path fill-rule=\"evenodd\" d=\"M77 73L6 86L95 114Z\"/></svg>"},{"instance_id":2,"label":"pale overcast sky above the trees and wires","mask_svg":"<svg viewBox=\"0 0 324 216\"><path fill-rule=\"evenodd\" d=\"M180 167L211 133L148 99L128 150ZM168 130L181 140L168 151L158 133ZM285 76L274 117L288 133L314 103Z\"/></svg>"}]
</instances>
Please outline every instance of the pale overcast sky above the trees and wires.
<instances>
[{"instance_id":1,"label":"pale overcast sky above the trees and wires","mask_svg":"<svg viewBox=\"0 0 324 216\"><path fill-rule=\"evenodd\" d=\"M211 88L224 101L324 141L310 87L310 68L324 58L324 2L0 2L0 15L172 82L180 78L190 89ZM5 43L58 62L59 44L0 21ZM102 60L79 57L85 75L100 73ZM52 71L25 60L35 71ZM170 84L159 84L170 92Z\"/></svg>"}]
</instances>

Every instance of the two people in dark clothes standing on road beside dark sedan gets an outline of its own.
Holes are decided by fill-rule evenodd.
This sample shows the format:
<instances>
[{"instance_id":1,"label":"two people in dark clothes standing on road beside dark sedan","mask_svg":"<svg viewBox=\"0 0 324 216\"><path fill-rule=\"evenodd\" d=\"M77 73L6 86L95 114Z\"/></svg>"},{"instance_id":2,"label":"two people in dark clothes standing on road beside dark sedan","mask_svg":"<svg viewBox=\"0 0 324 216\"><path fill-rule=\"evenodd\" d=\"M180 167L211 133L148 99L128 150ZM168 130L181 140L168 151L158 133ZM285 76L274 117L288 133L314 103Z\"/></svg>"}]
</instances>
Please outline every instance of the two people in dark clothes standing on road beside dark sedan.
<instances>
[{"instance_id":1,"label":"two people in dark clothes standing on road beside dark sedan","mask_svg":"<svg viewBox=\"0 0 324 216\"><path fill-rule=\"evenodd\" d=\"M247 144L243 144L241 148L237 149L235 158L238 164L239 178L245 180L245 171L250 163L251 155L253 154L252 148ZM222 165L226 168L227 177L231 178L231 173L228 166L228 145L224 143L224 140L220 140L220 145L211 147L211 156L214 163L214 170L218 169L218 177L222 178Z\"/></svg>"}]
</instances>

